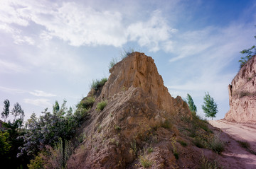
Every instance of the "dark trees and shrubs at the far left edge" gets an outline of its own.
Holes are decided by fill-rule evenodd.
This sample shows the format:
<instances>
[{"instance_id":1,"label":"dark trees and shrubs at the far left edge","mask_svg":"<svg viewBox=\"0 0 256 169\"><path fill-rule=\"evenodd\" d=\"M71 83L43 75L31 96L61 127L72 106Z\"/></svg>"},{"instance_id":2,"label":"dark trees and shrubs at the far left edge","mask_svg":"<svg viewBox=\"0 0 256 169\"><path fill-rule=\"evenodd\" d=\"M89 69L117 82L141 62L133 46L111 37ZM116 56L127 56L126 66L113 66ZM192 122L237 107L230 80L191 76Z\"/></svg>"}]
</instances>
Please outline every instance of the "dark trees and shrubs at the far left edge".
<instances>
[{"instance_id":1,"label":"dark trees and shrubs at the far left edge","mask_svg":"<svg viewBox=\"0 0 256 169\"><path fill-rule=\"evenodd\" d=\"M14 109L9 110L9 100L4 100L4 109L1 113L5 122L3 124L4 129L1 132L1 145L3 151L0 153L1 165L9 166L9 168L26 167L28 163L28 157L17 158L18 147L23 144L23 139L19 136L23 136L24 130L21 128L23 124L24 111L21 109L21 105L14 104Z\"/></svg>"}]
</instances>

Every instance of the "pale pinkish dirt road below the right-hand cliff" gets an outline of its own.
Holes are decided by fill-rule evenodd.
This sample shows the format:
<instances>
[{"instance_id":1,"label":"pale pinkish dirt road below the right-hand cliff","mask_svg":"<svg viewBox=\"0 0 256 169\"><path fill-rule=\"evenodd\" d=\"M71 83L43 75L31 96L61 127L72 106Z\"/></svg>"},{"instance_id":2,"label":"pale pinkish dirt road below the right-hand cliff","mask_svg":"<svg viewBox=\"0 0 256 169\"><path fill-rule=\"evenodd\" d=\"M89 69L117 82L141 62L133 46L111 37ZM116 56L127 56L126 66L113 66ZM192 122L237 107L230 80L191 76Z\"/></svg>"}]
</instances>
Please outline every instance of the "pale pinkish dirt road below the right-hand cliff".
<instances>
[{"instance_id":1,"label":"pale pinkish dirt road below the right-hand cliff","mask_svg":"<svg viewBox=\"0 0 256 169\"><path fill-rule=\"evenodd\" d=\"M213 120L209 123L215 127L213 132L219 134L226 145L225 151L218 159L223 168L256 168L256 156L246 151L237 142L247 141L252 151L256 151L256 124L241 124L225 120Z\"/></svg>"}]
</instances>

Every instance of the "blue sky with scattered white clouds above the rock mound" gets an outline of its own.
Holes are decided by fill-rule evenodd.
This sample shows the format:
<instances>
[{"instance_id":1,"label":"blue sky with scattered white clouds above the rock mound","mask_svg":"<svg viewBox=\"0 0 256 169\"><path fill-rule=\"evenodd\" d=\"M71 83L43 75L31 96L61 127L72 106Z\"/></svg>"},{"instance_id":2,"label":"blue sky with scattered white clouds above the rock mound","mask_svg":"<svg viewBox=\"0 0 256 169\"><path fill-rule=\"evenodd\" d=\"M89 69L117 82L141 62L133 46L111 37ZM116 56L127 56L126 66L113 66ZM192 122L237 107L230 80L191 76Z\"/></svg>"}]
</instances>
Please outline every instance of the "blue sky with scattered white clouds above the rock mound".
<instances>
[{"instance_id":1,"label":"blue sky with scattered white clouds above the rock mound","mask_svg":"<svg viewBox=\"0 0 256 169\"><path fill-rule=\"evenodd\" d=\"M1 0L0 112L6 99L26 120L55 100L75 108L112 58L134 49L154 59L174 98L189 93L203 117L209 92L222 119L255 25L253 0Z\"/></svg>"}]
</instances>

